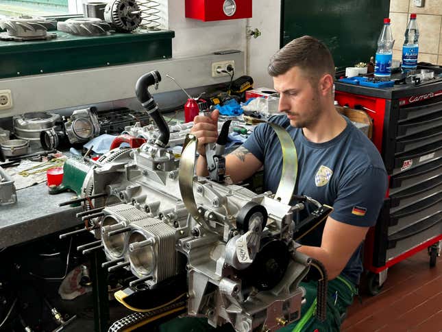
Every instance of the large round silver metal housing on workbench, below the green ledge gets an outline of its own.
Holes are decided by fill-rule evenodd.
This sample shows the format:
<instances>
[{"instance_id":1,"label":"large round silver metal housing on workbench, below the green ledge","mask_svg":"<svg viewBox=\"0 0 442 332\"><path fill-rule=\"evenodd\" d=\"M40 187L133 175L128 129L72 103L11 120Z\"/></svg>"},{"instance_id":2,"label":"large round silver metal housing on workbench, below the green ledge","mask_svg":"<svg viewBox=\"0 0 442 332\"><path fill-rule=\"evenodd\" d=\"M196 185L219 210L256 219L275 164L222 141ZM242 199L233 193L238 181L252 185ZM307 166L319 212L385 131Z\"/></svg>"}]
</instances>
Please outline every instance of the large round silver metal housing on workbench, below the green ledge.
<instances>
[{"instance_id":1,"label":"large round silver metal housing on workbench, below the green ledge","mask_svg":"<svg viewBox=\"0 0 442 332\"><path fill-rule=\"evenodd\" d=\"M56 123L60 121L60 115L49 112L29 112L15 115L12 121L17 138L39 143L40 132L56 128Z\"/></svg>"}]
</instances>

